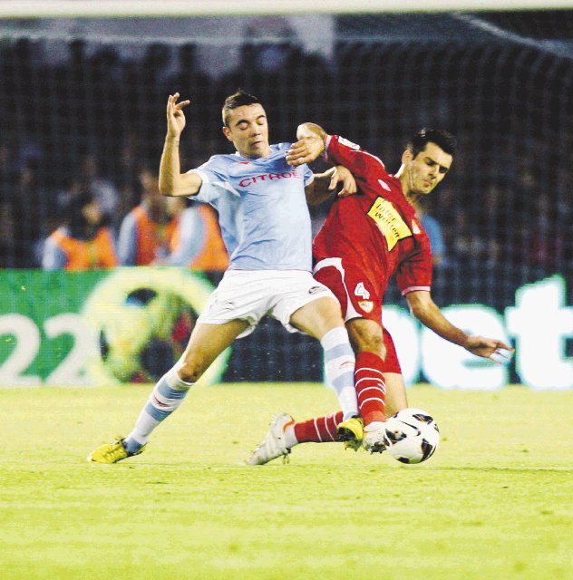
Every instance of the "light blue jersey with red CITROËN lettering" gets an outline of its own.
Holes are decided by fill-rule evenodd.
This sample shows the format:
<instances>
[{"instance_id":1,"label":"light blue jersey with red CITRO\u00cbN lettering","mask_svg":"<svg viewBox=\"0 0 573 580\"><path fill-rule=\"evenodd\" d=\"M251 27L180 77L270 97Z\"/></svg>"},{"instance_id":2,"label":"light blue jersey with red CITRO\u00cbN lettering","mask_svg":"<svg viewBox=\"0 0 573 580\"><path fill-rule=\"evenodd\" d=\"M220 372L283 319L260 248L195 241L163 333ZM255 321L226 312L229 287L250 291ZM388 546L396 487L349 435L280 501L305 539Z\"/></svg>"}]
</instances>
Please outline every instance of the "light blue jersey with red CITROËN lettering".
<instances>
[{"instance_id":1,"label":"light blue jersey with red CITRO\u00cbN lettering","mask_svg":"<svg viewBox=\"0 0 573 580\"><path fill-rule=\"evenodd\" d=\"M290 143L271 145L267 157L214 155L197 169L203 184L190 199L219 212L230 257L228 269L312 270L312 233L305 187L306 165L286 163Z\"/></svg>"}]
</instances>

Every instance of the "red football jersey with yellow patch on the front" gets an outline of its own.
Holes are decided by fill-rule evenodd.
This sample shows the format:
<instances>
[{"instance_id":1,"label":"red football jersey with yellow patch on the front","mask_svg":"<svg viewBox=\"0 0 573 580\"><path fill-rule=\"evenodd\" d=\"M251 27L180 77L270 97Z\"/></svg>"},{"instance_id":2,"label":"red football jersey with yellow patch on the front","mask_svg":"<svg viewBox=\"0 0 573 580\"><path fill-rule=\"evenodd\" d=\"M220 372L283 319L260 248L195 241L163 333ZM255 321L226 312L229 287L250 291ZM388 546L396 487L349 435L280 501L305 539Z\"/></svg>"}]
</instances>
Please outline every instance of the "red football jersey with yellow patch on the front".
<instances>
[{"instance_id":1,"label":"red football jersey with yellow patch on the front","mask_svg":"<svg viewBox=\"0 0 573 580\"><path fill-rule=\"evenodd\" d=\"M338 198L313 242L316 262L341 257L384 295L392 275L405 295L430 290L430 239L403 194L400 180L384 163L342 137L326 140L326 159L350 169L359 192Z\"/></svg>"}]
</instances>

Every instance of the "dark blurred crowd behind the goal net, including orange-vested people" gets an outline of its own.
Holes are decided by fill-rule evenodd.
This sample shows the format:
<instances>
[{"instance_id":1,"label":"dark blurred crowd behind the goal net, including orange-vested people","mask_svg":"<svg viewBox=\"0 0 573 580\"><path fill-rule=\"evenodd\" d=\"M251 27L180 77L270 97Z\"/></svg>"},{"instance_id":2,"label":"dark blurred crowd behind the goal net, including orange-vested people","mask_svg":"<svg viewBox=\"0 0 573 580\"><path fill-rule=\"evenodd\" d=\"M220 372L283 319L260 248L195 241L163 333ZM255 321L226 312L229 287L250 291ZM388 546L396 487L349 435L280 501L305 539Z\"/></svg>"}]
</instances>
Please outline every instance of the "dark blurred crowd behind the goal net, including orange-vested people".
<instances>
[{"instance_id":1,"label":"dark blurred crowd behind the goal net, including orange-vested people","mask_svg":"<svg viewBox=\"0 0 573 580\"><path fill-rule=\"evenodd\" d=\"M241 87L265 103L271 141L294 140L298 123L316 121L391 172L422 126L457 136L452 175L419 208L438 299L502 307L520 284L552 274L571 281L573 51L499 39L345 41L329 62L286 34L246 42L238 69L215 78L199 70L193 43L141 43L126 58L112 43L74 39L56 64L45 46L25 37L0 44L2 267L72 267L73 256L75 269L224 269L214 212L162 198L157 174L167 96L191 100L181 142L188 170L231 151L220 106ZM315 231L327 209L313 209Z\"/></svg>"}]
</instances>

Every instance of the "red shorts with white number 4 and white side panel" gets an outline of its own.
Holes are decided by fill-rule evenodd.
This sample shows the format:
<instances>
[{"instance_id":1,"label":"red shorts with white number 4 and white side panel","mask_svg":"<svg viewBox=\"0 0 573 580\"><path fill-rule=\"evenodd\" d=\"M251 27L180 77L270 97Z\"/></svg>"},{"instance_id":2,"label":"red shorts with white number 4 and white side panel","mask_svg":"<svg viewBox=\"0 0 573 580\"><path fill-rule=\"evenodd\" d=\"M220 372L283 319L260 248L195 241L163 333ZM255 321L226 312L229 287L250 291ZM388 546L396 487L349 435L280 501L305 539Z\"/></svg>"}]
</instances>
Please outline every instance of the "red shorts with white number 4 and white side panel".
<instances>
[{"instance_id":1,"label":"red shorts with white number 4 and white side panel","mask_svg":"<svg viewBox=\"0 0 573 580\"><path fill-rule=\"evenodd\" d=\"M342 258L327 258L316 264L313 275L336 296L345 322L366 318L382 326L383 289L364 276L364 272L346 269ZM383 333L386 347L384 372L402 374L392 336L384 327Z\"/></svg>"}]
</instances>

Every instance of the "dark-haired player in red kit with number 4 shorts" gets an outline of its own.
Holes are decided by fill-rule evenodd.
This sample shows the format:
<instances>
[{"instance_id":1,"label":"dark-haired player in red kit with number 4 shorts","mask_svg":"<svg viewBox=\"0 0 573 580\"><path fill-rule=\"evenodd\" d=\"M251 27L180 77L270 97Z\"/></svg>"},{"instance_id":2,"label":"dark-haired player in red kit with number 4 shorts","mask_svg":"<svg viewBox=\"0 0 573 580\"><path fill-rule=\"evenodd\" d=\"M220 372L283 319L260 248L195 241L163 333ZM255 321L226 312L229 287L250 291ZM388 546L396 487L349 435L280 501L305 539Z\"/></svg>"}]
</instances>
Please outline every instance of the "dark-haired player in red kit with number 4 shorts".
<instances>
[{"instance_id":1,"label":"dark-haired player in red kit with number 4 shorts","mask_svg":"<svg viewBox=\"0 0 573 580\"><path fill-rule=\"evenodd\" d=\"M432 300L430 240L413 205L451 168L452 135L418 132L403 151L402 165L394 175L382 160L342 137L326 134L314 123L301 125L297 138L286 155L291 165L309 163L324 152L325 160L344 166L339 171L352 172L358 188L355 195L335 200L316 236L314 275L338 298L356 354L354 383L364 420L364 448L382 452L386 412L390 415L407 407L400 363L382 324L382 301L393 275L412 314L445 340L493 360L509 357L512 349L499 340L463 332ZM339 440L338 422L334 413L300 423L286 413L278 415L249 463L286 455L296 443ZM360 438L358 431L348 433L349 440L355 438Z\"/></svg>"}]
</instances>

